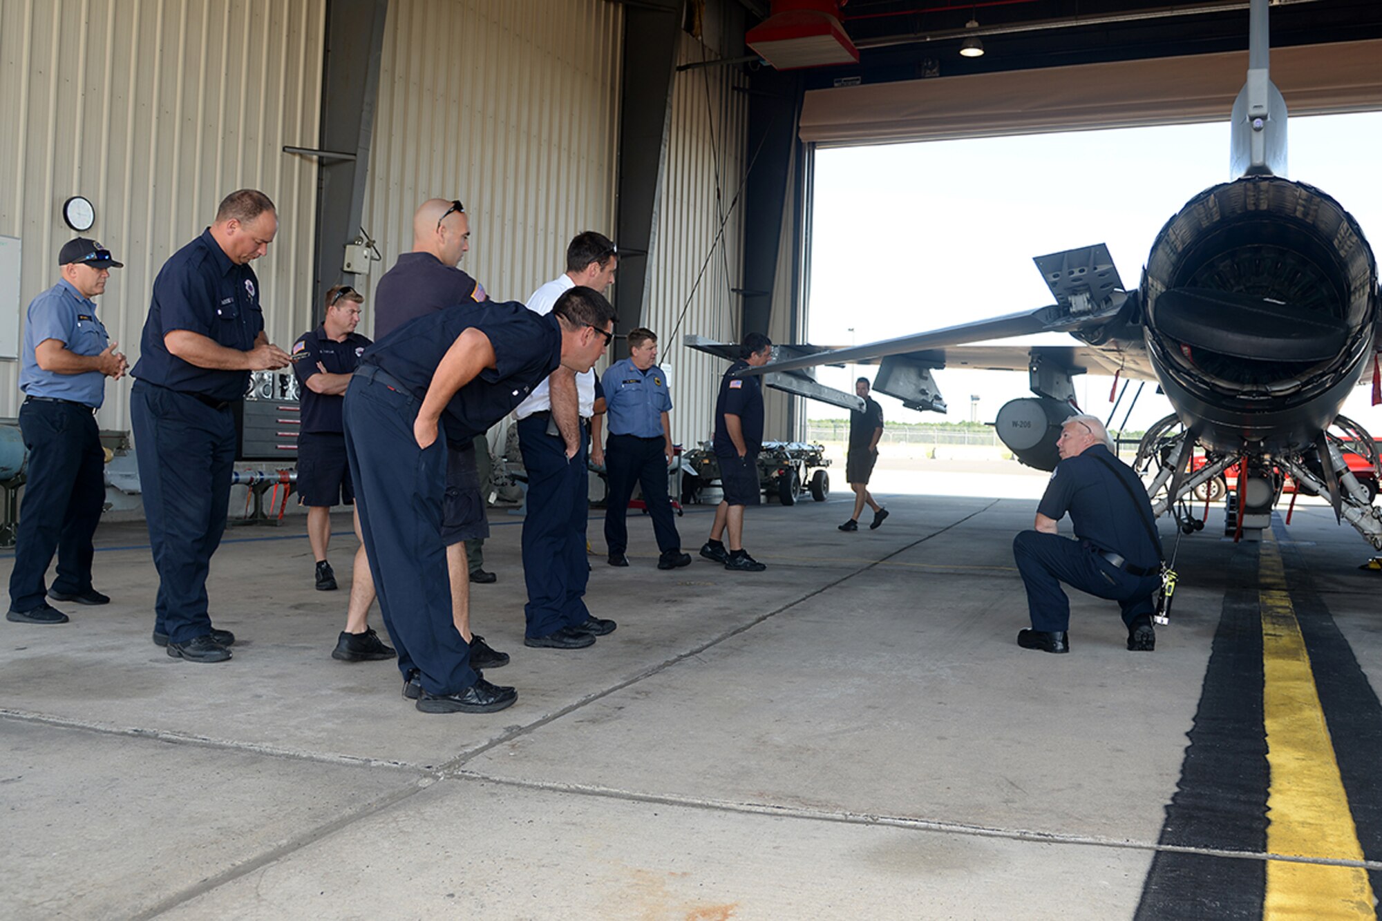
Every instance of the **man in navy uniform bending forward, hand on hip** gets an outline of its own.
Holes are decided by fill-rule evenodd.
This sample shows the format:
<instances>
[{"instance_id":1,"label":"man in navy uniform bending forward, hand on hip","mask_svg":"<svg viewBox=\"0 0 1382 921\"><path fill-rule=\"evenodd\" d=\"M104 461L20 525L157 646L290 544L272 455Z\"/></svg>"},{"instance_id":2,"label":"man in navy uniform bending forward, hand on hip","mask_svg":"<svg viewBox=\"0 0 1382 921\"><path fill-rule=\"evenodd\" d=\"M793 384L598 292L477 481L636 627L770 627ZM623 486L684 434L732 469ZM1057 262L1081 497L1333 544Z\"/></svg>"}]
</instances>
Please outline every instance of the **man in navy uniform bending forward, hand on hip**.
<instances>
[{"instance_id":1,"label":"man in navy uniform bending forward, hand on hip","mask_svg":"<svg viewBox=\"0 0 1382 921\"><path fill-rule=\"evenodd\" d=\"M446 442L468 442L558 366L586 371L614 308L576 287L547 316L521 304L431 311L366 349L346 391L346 450L365 550L404 693L423 712L493 712L517 700L470 666L452 623L441 540Z\"/></svg>"}]
</instances>

